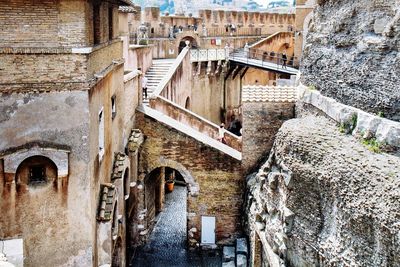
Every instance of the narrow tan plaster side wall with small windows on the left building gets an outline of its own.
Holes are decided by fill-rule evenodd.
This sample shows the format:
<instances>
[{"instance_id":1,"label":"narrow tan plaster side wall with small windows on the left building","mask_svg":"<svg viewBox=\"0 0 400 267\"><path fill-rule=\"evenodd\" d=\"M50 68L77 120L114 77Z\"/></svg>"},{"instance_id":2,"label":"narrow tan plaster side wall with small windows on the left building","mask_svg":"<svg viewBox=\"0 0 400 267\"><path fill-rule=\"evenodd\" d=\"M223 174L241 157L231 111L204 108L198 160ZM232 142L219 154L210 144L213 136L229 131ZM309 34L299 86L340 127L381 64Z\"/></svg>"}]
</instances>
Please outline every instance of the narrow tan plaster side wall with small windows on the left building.
<instances>
[{"instance_id":1,"label":"narrow tan plaster side wall with small windows on the left building","mask_svg":"<svg viewBox=\"0 0 400 267\"><path fill-rule=\"evenodd\" d=\"M111 183L112 172L115 163L115 153L125 152L128 138L134 124L134 112L138 99L138 83L137 78L133 78L132 87L125 88L124 84L124 68L119 65L105 76L100 82L91 89L89 93L89 110L90 110L90 174L93 177L92 186L94 190L91 195L91 205L94 207L92 218L97 216L97 207L99 204L100 184ZM133 83L136 81L136 84ZM115 114L112 114L112 101L115 98ZM104 114L104 155L99 159L99 112L103 110ZM129 165L129 164L128 164ZM118 185L118 184L117 184ZM123 188L123 186L120 186ZM119 214L125 214L124 194L118 189L118 210ZM121 225L120 233L124 233L125 220ZM98 224L97 224L98 226ZM96 245L97 232L93 232L93 241ZM122 245L125 246L125 236L121 234ZM112 236L106 241L111 242ZM99 247L101 249L101 246ZM121 252L121 257L125 258L125 250ZM103 262L107 263L107 262Z\"/></svg>"}]
</instances>

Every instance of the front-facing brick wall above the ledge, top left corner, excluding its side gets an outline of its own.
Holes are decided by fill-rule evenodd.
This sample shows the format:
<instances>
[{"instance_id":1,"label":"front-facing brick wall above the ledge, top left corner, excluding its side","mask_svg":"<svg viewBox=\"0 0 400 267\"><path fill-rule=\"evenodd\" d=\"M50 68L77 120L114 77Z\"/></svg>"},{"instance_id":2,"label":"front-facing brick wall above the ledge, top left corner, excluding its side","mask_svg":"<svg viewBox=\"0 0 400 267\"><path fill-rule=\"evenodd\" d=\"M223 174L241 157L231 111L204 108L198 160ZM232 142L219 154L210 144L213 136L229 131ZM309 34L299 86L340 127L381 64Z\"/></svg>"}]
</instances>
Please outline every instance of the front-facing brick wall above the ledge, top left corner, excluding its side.
<instances>
[{"instance_id":1,"label":"front-facing brick wall above the ledge, top left corner, excluding its side","mask_svg":"<svg viewBox=\"0 0 400 267\"><path fill-rule=\"evenodd\" d=\"M1 1L1 46L85 46L89 42L86 1ZM27 12L29 11L29 12Z\"/></svg>"}]
</instances>

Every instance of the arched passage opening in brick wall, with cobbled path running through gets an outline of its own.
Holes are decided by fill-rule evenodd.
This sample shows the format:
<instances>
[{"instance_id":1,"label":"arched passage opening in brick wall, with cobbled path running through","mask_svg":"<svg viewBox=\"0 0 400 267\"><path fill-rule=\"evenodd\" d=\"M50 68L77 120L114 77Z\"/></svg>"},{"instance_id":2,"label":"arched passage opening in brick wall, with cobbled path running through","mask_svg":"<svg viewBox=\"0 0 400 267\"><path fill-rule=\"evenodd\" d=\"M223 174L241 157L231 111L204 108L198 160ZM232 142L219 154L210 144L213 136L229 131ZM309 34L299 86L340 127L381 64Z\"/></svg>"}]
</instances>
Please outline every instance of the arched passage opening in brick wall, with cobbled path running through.
<instances>
[{"instance_id":1,"label":"arched passage opening in brick wall, with cobbled path running through","mask_svg":"<svg viewBox=\"0 0 400 267\"><path fill-rule=\"evenodd\" d=\"M165 186L168 180L175 182L172 192ZM157 167L146 176L144 185L147 221L155 221L155 225L150 229L147 243L137 250L132 264L182 266L188 260L187 183L178 170Z\"/></svg>"}]
</instances>

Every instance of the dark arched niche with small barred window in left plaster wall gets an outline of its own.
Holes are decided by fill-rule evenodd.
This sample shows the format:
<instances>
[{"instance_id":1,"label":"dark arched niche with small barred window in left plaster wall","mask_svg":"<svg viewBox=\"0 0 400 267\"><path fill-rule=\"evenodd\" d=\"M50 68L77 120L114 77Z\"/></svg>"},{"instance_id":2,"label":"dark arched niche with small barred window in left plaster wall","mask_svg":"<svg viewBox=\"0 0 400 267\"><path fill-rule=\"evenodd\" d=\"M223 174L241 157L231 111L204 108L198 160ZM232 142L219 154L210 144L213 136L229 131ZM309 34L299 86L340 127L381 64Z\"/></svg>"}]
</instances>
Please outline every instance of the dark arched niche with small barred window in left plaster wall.
<instances>
[{"instance_id":1,"label":"dark arched niche with small barred window in left plaster wall","mask_svg":"<svg viewBox=\"0 0 400 267\"><path fill-rule=\"evenodd\" d=\"M43 185L57 181L57 177L56 164L44 156L26 158L18 166L15 173L17 185Z\"/></svg>"}]
</instances>

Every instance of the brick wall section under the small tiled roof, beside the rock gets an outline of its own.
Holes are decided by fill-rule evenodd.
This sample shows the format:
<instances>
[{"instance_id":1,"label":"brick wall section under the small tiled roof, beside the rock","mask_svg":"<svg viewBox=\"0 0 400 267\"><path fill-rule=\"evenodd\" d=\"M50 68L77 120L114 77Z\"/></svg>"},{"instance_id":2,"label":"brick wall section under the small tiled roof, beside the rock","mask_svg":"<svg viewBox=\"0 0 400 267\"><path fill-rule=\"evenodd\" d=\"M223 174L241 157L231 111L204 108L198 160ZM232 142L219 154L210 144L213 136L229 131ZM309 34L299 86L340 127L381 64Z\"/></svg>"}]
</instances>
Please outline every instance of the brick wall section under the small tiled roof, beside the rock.
<instances>
[{"instance_id":1,"label":"brick wall section under the small tiled roof, beside the rock","mask_svg":"<svg viewBox=\"0 0 400 267\"><path fill-rule=\"evenodd\" d=\"M243 102L243 170L250 171L268 156L282 123L294 117L294 103Z\"/></svg>"}]
</instances>

